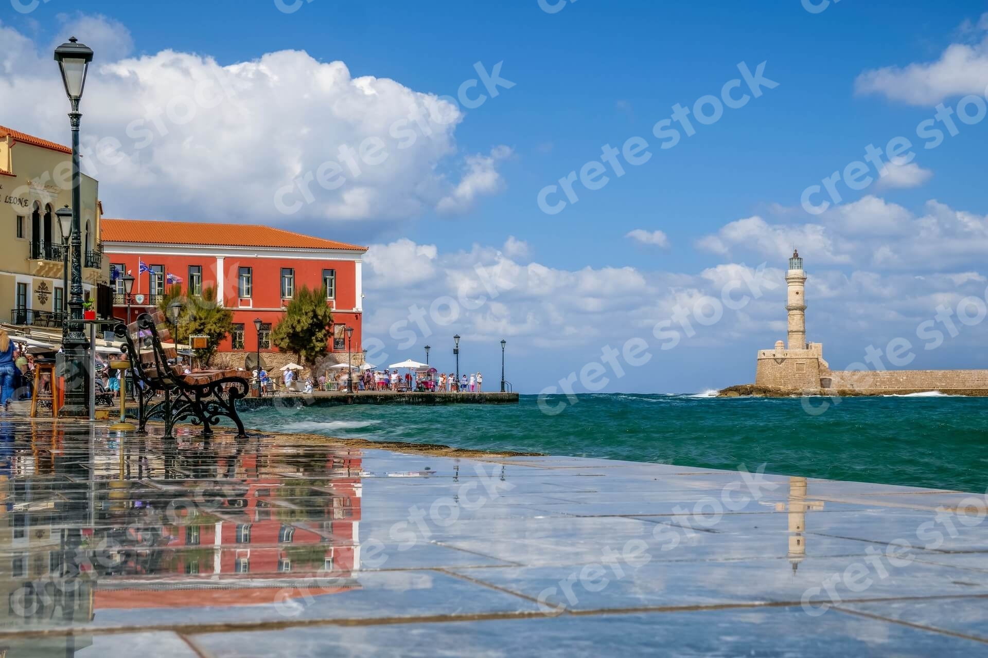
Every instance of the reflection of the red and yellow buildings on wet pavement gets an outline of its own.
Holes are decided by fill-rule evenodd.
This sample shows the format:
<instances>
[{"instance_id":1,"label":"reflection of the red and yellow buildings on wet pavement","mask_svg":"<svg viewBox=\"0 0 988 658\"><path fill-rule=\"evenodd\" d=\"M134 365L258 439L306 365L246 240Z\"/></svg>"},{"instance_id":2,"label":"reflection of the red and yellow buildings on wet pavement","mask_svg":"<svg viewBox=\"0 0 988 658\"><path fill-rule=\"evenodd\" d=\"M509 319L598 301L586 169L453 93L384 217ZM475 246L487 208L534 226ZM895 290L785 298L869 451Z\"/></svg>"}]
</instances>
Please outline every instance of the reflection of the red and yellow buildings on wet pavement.
<instances>
[{"instance_id":1,"label":"reflection of the red and yellow buildings on wet pavement","mask_svg":"<svg viewBox=\"0 0 988 658\"><path fill-rule=\"evenodd\" d=\"M122 445L65 431L48 424L15 437L0 422L0 589L9 602L0 627L84 626L103 611L271 605L360 587L360 451L194 435ZM91 639L58 642L32 655L71 656Z\"/></svg>"}]
</instances>

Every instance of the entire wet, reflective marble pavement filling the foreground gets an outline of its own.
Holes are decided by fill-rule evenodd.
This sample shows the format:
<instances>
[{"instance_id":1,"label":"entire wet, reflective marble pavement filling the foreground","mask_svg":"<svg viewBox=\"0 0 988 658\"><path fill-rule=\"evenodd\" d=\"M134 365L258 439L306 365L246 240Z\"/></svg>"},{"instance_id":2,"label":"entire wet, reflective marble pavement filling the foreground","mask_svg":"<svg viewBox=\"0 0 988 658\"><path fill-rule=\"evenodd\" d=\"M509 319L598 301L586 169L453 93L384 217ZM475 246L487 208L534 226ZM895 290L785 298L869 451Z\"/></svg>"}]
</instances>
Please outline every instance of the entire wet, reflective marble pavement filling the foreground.
<instances>
[{"instance_id":1,"label":"entire wet, reflective marble pavement filling the foreground","mask_svg":"<svg viewBox=\"0 0 988 658\"><path fill-rule=\"evenodd\" d=\"M153 431L0 419L0 656L988 655L984 493Z\"/></svg>"}]
</instances>

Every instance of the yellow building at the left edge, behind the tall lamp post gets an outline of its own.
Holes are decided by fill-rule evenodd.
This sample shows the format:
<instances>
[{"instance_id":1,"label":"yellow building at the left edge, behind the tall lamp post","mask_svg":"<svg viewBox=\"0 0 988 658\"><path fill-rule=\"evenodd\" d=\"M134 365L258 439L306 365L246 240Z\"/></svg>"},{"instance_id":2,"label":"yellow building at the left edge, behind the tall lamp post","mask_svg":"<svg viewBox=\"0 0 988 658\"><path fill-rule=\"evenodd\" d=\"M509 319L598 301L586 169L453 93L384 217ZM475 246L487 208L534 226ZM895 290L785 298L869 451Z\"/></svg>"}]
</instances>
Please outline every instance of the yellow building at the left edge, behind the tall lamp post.
<instances>
[{"instance_id":1,"label":"yellow building at the left edge, behind the tall lamp post","mask_svg":"<svg viewBox=\"0 0 988 658\"><path fill-rule=\"evenodd\" d=\"M66 133L68 128L66 127ZM62 236L55 211L72 202L72 150L0 125L0 322L60 326ZM83 290L109 283L99 183L80 174Z\"/></svg>"}]
</instances>

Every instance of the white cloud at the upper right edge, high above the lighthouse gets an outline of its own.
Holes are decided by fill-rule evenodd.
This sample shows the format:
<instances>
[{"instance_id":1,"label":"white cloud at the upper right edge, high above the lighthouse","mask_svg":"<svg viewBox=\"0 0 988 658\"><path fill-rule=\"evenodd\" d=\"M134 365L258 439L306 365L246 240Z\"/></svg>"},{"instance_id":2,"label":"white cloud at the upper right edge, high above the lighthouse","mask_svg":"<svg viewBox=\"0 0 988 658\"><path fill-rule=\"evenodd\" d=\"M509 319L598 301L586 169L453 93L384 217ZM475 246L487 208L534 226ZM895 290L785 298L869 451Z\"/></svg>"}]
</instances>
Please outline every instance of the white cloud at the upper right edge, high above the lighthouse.
<instances>
[{"instance_id":1,"label":"white cloud at the upper right edge, high above the lighthouse","mask_svg":"<svg viewBox=\"0 0 988 658\"><path fill-rule=\"evenodd\" d=\"M932 106L952 96L988 94L988 14L977 28L977 43L951 43L940 59L912 63L905 67L887 66L864 71L856 81L859 94L881 94L893 101L916 106Z\"/></svg>"}]
</instances>

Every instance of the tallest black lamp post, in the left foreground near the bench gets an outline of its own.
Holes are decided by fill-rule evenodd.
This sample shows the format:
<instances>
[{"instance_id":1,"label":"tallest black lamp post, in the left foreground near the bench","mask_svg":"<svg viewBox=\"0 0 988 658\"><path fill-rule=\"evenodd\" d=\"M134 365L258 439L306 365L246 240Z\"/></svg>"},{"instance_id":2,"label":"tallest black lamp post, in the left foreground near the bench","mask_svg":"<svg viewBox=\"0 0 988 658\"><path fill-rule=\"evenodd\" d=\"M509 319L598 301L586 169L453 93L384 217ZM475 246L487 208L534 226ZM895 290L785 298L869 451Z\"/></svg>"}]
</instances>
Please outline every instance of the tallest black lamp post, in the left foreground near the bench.
<instances>
[{"instance_id":1,"label":"tallest black lamp post, in the left foreground near the bench","mask_svg":"<svg viewBox=\"0 0 988 658\"><path fill-rule=\"evenodd\" d=\"M86 402L89 399L86 373L86 348L89 341L82 330L82 230L79 213L82 209L81 179L79 176L79 123L82 114L79 102L86 86L86 73L89 62L93 61L93 51L71 37L55 48L55 61L61 70L65 95L68 96L72 111L69 123L72 127L72 289L69 297L69 324L62 349L68 370L65 373L65 405L61 415L83 417L89 415Z\"/></svg>"}]
</instances>

